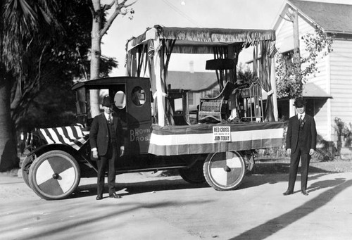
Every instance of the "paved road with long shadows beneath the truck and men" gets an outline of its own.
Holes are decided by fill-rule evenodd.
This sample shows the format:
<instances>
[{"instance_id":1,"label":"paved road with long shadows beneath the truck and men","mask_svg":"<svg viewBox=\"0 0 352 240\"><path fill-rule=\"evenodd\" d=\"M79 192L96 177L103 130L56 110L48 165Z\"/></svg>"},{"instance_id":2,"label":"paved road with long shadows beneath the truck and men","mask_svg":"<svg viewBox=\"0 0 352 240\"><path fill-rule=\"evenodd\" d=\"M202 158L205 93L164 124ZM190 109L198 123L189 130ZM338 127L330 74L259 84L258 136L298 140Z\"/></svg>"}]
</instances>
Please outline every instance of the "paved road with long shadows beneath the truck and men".
<instances>
[{"instance_id":1,"label":"paved road with long shadows beneath the truck and men","mask_svg":"<svg viewBox=\"0 0 352 240\"><path fill-rule=\"evenodd\" d=\"M299 182L282 196L282 174L250 175L224 192L129 174L117 177L120 199L96 201L93 178L72 198L45 201L0 175L0 239L351 239L351 172L309 177L309 196Z\"/></svg>"}]
</instances>

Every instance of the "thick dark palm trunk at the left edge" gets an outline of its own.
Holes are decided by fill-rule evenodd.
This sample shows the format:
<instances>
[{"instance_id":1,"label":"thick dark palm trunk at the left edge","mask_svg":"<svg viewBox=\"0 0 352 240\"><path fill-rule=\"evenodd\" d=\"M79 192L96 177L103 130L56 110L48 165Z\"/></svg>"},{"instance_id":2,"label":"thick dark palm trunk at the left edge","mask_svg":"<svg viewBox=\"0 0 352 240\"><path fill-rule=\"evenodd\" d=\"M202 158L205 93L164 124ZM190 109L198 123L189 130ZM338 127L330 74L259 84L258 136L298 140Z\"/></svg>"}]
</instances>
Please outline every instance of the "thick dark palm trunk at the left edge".
<instances>
[{"instance_id":1,"label":"thick dark palm trunk at the left edge","mask_svg":"<svg viewBox=\"0 0 352 240\"><path fill-rule=\"evenodd\" d=\"M11 122L11 77L0 69L0 172L19 168Z\"/></svg>"}]
</instances>

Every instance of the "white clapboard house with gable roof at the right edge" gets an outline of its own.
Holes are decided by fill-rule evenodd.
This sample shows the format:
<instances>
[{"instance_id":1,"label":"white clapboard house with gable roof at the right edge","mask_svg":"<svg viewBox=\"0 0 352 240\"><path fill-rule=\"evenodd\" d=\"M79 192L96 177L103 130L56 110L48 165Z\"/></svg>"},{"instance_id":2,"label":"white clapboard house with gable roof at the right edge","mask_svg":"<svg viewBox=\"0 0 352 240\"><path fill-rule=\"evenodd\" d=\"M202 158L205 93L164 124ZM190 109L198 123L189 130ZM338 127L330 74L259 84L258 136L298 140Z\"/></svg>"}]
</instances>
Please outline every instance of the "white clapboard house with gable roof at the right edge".
<instances>
[{"instance_id":1,"label":"white clapboard house with gable roof at the right edge","mask_svg":"<svg viewBox=\"0 0 352 240\"><path fill-rule=\"evenodd\" d=\"M318 134L327 141L336 141L334 119L352 122L352 6L313 1L289 0L277 16L273 29L279 52L294 49L294 28L287 13L298 13L299 39L307 32L315 32L319 25L332 36L333 51L324 58L318 57L318 72L308 78L303 96L308 100L307 112L314 115ZM301 56L306 54L300 42ZM278 101L279 117L289 114L289 101Z\"/></svg>"}]
</instances>

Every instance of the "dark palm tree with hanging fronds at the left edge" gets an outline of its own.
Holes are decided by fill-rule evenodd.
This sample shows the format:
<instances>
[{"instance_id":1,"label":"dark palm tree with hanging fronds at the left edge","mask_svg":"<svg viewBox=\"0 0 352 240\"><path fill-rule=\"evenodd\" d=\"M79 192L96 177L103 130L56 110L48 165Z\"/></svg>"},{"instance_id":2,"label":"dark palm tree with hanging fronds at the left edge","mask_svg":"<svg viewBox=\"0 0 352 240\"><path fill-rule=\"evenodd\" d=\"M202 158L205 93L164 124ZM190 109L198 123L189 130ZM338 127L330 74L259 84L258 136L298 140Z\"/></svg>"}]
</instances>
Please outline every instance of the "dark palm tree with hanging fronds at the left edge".
<instances>
[{"instance_id":1,"label":"dark palm tree with hanging fronds at the left edge","mask_svg":"<svg viewBox=\"0 0 352 240\"><path fill-rule=\"evenodd\" d=\"M56 6L56 1L46 0L0 2L0 172L18 168L11 121L11 88L15 82L21 84L25 79L23 56L33 39L45 40L42 27L55 24Z\"/></svg>"}]
</instances>

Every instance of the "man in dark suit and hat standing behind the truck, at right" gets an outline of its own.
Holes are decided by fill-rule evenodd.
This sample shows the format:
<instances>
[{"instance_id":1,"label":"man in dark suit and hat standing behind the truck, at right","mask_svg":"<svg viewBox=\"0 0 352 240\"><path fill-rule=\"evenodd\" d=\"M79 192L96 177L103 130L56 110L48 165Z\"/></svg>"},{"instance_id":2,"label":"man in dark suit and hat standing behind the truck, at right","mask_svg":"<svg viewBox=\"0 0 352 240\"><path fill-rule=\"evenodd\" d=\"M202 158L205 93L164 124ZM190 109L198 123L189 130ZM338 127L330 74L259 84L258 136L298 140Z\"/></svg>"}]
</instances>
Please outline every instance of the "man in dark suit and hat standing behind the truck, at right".
<instances>
[{"instance_id":1,"label":"man in dark suit and hat standing behind the truck, at right","mask_svg":"<svg viewBox=\"0 0 352 240\"><path fill-rule=\"evenodd\" d=\"M306 114L306 101L298 98L294 101L297 115L289 119L287 128L286 149L291 155L289 166L289 187L284 196L294 193L294 183L298 170L298 163L301 158L301 193L308 196L307 179L310 156L315 152L317 144L317 130L314 118Z\"/></svg>"}]
</instances>

